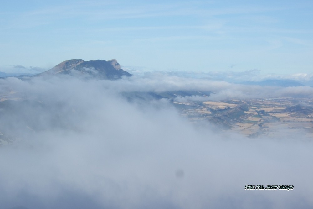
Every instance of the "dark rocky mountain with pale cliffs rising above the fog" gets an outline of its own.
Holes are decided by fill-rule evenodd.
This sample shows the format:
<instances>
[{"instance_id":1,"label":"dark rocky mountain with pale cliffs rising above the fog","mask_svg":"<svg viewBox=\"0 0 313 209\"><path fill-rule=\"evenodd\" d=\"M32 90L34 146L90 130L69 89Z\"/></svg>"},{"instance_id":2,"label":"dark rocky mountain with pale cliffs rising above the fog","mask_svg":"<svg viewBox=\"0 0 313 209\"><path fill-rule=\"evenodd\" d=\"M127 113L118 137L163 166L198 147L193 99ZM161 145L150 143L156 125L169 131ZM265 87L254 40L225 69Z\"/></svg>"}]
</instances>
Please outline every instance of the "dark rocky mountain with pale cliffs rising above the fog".
<instances>
[{"instance_id":1,"label":"dark rocky mountain with pale cliffs rising above the fog","mask_svg":"<svg viewBox=\"0 0 313 209\"><path fill-rule=\"evenodd\" d=\"M81 59L66 60L54 66L48 71L39 73L35 76L51 75L73 75L73 76L91 76L101 80L116 80L122 76L132 76L130 73L121 69L117 60L90 60Z\"/></svg>"}]
</instances>

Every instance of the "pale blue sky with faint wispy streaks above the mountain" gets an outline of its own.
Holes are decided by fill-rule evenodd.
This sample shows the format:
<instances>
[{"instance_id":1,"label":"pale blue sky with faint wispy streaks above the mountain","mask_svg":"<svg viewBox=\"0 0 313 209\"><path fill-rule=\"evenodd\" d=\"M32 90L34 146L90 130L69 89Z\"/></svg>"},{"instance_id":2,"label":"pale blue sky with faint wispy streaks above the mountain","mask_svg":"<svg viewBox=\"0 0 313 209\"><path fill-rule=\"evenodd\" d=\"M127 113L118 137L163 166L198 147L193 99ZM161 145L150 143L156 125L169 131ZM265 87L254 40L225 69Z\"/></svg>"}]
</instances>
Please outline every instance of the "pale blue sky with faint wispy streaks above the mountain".
<instances>
[{"instance_id":1,"label":"pale blue sky with faint wispy streaks above the mountain","mask_svg":"<svg viewBox=\"0 0 313 209\"><path fill-rule=\"evenodd\" d=\"M160 71L312 73L312 20L311 0L2 1L0 71L115 58Z\"/></svg>"}]
</instances>

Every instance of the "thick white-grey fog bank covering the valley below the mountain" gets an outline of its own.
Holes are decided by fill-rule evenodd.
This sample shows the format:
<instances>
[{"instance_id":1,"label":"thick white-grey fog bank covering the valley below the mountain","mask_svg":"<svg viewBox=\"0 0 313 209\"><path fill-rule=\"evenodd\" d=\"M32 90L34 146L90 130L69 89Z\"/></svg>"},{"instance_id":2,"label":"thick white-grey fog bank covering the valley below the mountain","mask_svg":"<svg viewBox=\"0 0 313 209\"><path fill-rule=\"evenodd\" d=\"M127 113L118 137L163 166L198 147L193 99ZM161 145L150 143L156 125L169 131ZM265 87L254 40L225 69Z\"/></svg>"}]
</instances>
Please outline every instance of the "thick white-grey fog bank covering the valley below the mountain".
<instances>
[{"instance_id":1,"label":"thick white-grey fog bank covering the valley below the mountain","mask_svg":"<svg viewBox=\"0 0 313 209\"><path fill-rule=\"evenodd\" d=\"M313 95L311 87L161 74L0 79L0 95L25 100L10 104L12 112L0 109L0 131L15 139L0 147L0 208L313 207L312 141L213 133L210 124L194 127L166 99L121 96L174 90L213 91L212 100ZM294 189L244 189L273 184Z\"/></svg>"}]
</instances>

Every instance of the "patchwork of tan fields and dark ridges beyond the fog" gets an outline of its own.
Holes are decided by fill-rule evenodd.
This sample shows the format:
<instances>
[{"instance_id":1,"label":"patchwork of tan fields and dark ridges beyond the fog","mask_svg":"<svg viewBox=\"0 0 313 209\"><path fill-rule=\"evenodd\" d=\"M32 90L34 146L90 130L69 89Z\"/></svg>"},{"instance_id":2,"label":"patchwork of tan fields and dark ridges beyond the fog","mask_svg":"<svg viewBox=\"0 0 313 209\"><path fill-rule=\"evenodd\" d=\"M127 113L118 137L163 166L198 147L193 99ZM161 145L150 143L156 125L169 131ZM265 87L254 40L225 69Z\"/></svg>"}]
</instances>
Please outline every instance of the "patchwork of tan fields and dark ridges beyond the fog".
<instances>
[{"instance_id":1,"label":"patchwork of tan fields and dark ridges beyond the fog","mask_svg":"<svg viewBox=\"0 0 313 209\"><path fill-rule=\"evenodd\" d=\"M223 131L249 138L284 138L299 134L313 137L313 100L307 98L259 98L249 100L174 102L193 122L209 121Z\"/></svg>"}]
</instances>

